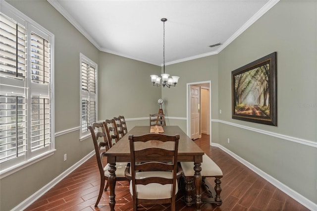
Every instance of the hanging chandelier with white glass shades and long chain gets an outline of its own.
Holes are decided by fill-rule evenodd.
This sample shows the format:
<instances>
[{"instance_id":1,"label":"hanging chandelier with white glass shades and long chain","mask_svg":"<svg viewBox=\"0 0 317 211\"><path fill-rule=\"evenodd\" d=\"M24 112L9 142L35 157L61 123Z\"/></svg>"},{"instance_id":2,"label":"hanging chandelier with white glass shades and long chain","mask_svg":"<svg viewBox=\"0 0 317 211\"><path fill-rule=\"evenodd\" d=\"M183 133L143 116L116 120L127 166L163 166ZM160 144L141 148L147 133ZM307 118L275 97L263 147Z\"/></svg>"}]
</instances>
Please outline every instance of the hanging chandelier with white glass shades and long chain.
<instances>
[{"instance_id":1,"label":"hanging chandelier with white glass shades and long chain","mask_svg":"<svg viewBox=\"0 0 317 211\"><path fill-rule=\"evenodd\" d=\"M169 78L169 74L165 73L165 21L167 21L166 18L160 19L163 22L163 74L161 74L161 78L157 75L150 75L151 81L153 83L153 86L163 86L163 87L174 87L176 86L179 77L178 76L172 76ZM160 81L162 79L162 82Z\"/></svg>"}]
</instances>

